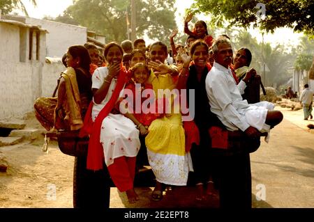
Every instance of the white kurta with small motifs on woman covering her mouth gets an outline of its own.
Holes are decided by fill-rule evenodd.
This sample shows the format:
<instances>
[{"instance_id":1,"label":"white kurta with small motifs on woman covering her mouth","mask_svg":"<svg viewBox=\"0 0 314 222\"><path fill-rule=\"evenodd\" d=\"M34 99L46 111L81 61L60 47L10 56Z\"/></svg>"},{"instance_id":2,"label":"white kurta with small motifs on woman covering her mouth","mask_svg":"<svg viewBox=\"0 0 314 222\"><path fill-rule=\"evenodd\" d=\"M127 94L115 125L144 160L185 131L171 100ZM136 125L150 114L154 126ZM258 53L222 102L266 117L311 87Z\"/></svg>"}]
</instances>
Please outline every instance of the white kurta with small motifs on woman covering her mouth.
<instances>
[{"instance_id":1,"label":"white kurta with small motifs on woman covering her mouth","mask_svg":"<svg viewBox=\"0 0 314 222\"><path fill-rule=\"evenodd\" d=\"M101 67L95 70L92 76L91 88L100 88L107 77L108 68ZM94 102L91 118L95 121L98 113L112 97L117 85L117 79L112 79L105 99L100 103ZM103 120L100 131L100 143L103 145L105 164L113 164L117 157L136 157L140 150L139 131L132 120L122 114L109 113Z\"/></svg>"}]
</instances>

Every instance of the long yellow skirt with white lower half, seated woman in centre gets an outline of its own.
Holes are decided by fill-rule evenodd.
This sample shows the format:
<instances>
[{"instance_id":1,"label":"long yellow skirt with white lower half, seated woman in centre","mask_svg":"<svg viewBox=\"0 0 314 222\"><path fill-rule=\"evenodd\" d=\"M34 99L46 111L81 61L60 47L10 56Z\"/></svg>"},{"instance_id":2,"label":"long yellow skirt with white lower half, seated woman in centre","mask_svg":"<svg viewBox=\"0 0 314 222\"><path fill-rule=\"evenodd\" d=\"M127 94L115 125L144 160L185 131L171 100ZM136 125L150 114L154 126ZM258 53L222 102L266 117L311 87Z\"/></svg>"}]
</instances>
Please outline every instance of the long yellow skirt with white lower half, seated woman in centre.
<instances>
[{"instance_id":1,"label":"long yellow skirt with white lower half, seated woman in centre","mask_svg":"<svg viewBox=\"0 0 314 222\"><path fill-rule=\"evenodd\" d=\"M188 180L187 154L181 114L172 114L151 122L145 138L147 156L156 180L185 186Z\"/></svg>"}]
</instances>

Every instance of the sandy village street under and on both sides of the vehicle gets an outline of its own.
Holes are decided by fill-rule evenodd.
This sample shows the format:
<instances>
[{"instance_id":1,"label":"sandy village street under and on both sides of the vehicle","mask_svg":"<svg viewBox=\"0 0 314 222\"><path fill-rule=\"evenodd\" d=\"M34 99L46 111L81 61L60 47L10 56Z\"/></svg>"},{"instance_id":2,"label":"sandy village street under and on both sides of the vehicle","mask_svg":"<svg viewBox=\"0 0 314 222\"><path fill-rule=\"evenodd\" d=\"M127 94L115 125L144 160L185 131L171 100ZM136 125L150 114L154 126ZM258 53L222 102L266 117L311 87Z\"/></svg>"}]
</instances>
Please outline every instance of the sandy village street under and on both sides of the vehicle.
<instances>
[{"instance_id":1,"label":"sandy village street under and on both sides of the vehicle","mask_svg":"<svg viewBox=\"0 0 314 222\"><path fill-rule=\"evenodd\" d=\"M276 106L283 111L283 122L271 131L269 143L262 141L251 154L252 196L255 208L314 207L314 134L303 120L303 111ZM40 127L35 118L28 125ZM61 153L56 141L42 152L43 137L17 145L0 147L8 171L0 173L0 207L73 207L74 157ZM232 186L232 184L231 184ZM55 198L51 196L56 189ZM137 188L140 200L127 203L124 193L111 189L110 208L124 207L216 207L218 200L195 200L193 188L167 191L163 200L150 199L151 188ZM260 200L257 200L260 199Z\"/></svg>"}]
</instances>

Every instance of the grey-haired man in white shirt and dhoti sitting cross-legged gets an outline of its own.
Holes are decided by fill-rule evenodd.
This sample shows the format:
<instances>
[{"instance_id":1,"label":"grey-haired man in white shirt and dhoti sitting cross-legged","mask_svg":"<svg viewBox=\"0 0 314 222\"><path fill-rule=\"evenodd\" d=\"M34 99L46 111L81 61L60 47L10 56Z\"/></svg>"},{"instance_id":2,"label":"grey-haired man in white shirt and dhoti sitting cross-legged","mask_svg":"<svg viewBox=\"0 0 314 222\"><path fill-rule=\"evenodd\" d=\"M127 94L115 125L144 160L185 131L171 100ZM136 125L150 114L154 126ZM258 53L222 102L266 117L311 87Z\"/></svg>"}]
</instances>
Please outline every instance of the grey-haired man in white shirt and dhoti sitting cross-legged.
<instances>
[{"instance_id":1,"label":"grey-haired man in white shirt and dhoti sitting cross-legged","mask_svg":"<svg viewBox=\"0 0 314 222\"><path fill-rule=\"evenodd\" d=\"M242 99L229 68L233 56L229 40L218 39L212 49L215 62L206 78L211 112L215 113L230 131L240 129L251 138L260 136L260 132L269 132L271 127L283 120L283 114L272 110L274 104L270 102L248 104Z\"/></svg>"}]
</instances>

